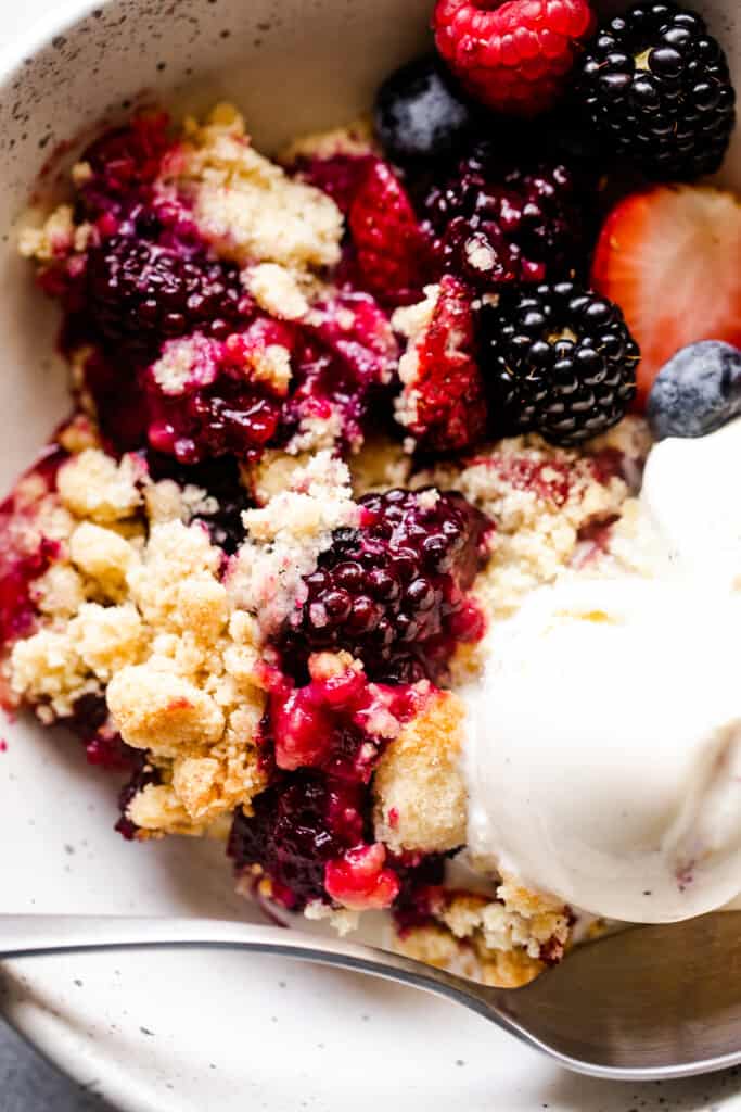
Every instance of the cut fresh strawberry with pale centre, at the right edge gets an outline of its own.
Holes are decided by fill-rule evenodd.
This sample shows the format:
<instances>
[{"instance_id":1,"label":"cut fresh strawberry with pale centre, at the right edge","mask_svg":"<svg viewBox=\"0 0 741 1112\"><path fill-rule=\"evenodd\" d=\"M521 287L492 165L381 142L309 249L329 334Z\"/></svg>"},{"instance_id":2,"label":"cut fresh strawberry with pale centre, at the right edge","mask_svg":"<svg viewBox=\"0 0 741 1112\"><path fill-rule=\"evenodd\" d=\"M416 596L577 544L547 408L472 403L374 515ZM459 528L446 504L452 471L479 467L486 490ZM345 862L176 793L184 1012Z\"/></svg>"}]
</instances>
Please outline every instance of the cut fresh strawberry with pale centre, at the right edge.
<instances>
[{"instance_id":1,"label":"cut fresh strawberry with pale centre, at the right edge","mask_svg":"<svg viewBox=\"0 0 741 1112\"><path fill-rule=\"evenodd\" d=\"M664 363L697 340L741 346L741 202L710 186L658 186L604 222L592 285L641 348L638 405Z\"/></svg>"}]
</instances>

